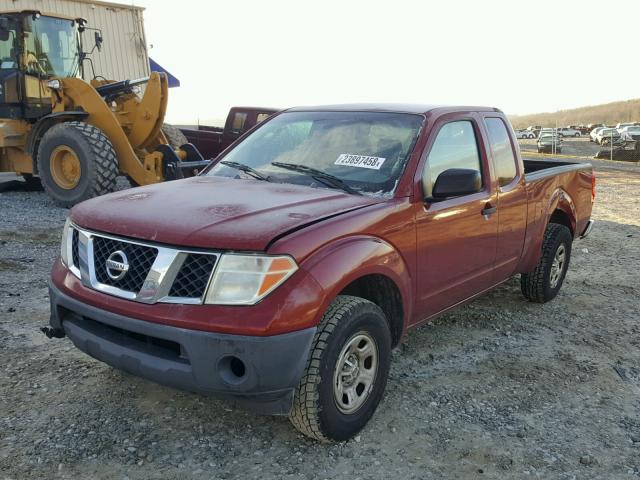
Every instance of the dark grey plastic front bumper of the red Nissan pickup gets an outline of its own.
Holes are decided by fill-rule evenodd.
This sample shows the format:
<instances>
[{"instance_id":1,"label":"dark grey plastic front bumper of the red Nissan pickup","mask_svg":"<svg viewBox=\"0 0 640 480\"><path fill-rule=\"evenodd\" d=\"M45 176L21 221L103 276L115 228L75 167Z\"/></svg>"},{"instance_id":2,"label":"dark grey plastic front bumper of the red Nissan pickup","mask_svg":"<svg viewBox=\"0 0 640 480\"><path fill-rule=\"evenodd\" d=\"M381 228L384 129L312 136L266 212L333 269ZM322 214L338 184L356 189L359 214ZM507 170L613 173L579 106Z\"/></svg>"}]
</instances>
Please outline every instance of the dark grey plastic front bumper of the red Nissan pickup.
<instances>
[{"instance_id":1,"label":"dark grey plastic front bumper of the red Nissan pickup","mask_svg":"<svg viewBox=\"0 0 640 480\"><path fill-rule=\"evenodd\" d=\"M154 382L286 414L314 328L270 337L187 330L137 320L74 300L50 285L51 327L83 352Z\"/></svg>"}]
</instances>

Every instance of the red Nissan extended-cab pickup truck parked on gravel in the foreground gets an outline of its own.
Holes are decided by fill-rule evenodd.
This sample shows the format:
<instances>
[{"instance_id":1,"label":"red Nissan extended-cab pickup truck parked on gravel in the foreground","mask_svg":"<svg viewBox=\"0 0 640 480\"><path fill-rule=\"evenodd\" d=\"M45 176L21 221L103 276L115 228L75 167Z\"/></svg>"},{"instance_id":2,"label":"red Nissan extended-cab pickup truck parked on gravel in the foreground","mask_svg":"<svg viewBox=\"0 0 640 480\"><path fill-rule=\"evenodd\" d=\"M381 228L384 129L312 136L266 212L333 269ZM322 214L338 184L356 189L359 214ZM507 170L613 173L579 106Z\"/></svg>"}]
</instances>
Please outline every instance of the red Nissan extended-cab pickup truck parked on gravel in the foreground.
<instances>
[{"instance_id":1,"label":"red Nissan extended-cab pickup truck parked on gravel in the foreground","mask_svg":"<svg viewBox=\"0 0 640 480\"><path fill-rule=\"evenodd\" d=\"M153 381L359 431L407 330L520 274L560 289L589 164L523 161L494 108L293 108L199 176L76 205L50 336Z\"/></svg>"}]
</instances>

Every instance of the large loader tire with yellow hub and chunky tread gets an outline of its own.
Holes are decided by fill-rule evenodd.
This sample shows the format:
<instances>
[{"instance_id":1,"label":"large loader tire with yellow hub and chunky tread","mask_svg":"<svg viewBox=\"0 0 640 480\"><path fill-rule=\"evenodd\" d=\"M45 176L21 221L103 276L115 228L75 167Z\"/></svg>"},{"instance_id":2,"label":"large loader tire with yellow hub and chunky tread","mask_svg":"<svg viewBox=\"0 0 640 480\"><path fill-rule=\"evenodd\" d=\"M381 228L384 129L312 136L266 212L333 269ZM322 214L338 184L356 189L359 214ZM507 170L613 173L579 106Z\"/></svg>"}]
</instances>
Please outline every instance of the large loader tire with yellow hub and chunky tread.
<instances>
[{"instance_id":1,"label":"large loader tire with yellow hub and chunky tread","mask_svg":"<svg viewBox=\"0 0 640 480\"><path fill-rule=\"evenodd\" d=\"M44 190L61 207L113 192L118 159L99 128L85 122L63 122L43 135L38 174Z\"/></svg>"}]
</instances>

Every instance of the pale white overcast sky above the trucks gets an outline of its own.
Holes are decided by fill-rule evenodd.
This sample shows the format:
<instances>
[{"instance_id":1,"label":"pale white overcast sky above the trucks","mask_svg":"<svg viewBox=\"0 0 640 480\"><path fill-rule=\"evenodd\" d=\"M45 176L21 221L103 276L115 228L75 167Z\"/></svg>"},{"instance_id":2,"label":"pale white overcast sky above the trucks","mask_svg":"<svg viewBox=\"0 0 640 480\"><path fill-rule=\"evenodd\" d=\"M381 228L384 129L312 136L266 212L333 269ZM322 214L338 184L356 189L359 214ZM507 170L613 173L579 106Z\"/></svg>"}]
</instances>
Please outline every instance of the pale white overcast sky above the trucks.
<instances>
[{"instance_id":1,"label":"pale white overcast sky above the trucks","mask_svg":"<svg viewBox=\"0 0 640 480\"><path fill-rule=\"evenodd\" d=\"M181 86L167 120L230 107L466 104L507 114L640 97L640 1L132 0Z\"/></svg>"}]
</instances>

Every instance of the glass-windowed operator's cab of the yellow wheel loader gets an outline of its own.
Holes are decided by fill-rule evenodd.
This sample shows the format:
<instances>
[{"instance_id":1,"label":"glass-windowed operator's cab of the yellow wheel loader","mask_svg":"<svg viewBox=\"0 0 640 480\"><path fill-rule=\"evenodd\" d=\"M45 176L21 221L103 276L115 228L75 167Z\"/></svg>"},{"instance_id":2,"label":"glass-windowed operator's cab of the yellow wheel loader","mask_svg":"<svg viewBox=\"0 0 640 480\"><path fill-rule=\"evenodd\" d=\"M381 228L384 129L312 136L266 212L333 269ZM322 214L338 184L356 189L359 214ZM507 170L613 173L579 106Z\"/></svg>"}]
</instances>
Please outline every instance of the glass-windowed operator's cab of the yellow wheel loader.
<instances>
[{"instance_id":1,"label":"glass-windowed operator's cab of the yellow wheel loader","mask_svg":"<svg viewBox=\"0 0 640 480\"><path fill-rule=\"evenodd\" d=\"M81 74L80 19L21 11L0 15L0 118L51 111L52 78Z\"/></svg>"}]
</instances>

